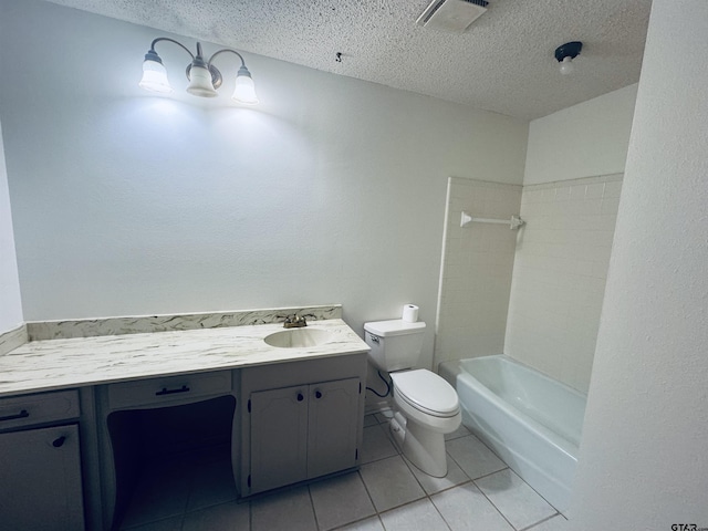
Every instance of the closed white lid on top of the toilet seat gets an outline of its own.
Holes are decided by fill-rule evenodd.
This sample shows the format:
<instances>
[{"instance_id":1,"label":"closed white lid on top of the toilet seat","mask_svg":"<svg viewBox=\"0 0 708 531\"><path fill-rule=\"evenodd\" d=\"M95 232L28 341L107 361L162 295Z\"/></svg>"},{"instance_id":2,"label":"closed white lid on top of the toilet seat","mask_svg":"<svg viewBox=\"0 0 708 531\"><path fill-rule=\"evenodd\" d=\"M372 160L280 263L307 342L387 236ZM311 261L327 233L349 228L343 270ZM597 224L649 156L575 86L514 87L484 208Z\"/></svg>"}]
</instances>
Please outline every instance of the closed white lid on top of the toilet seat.
<instances>
[{"instance_id":1,"label":"closed white lid on top of the toilet seat","mask_svg":"<svg viewBox=\"0 0 708 531\"><path fill-rule=\"evenodd\" d=\"M436 416L451 416L459 409L457 393L450 384L430 371L392 373L394 388L413 407Z\"/></svg>"}]
</instances>

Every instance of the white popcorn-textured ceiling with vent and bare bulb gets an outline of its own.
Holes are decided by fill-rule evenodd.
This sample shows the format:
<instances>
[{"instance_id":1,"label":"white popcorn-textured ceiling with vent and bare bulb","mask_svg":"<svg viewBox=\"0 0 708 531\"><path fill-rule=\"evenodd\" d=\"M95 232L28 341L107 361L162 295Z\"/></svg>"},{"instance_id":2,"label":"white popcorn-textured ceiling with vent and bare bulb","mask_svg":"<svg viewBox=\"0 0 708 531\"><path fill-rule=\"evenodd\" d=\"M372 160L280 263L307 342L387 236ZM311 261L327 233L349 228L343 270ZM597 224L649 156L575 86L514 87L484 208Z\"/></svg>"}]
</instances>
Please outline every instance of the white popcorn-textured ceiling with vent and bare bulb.
<instances>
[{"instance_id":1,"label":"white popcorn-textured ceiling with vent and bare bulb","mask_svg":"<svg viewBox=\"0 0 708 531\"><path fill-rule=\"evenodd\" d=\"M451 34L416 24L429 0L51 1L522 118L638 81L652 4L489 0ZM576 40L575 72L561 76L553 51Z\"/></svg>"}]
</instances>

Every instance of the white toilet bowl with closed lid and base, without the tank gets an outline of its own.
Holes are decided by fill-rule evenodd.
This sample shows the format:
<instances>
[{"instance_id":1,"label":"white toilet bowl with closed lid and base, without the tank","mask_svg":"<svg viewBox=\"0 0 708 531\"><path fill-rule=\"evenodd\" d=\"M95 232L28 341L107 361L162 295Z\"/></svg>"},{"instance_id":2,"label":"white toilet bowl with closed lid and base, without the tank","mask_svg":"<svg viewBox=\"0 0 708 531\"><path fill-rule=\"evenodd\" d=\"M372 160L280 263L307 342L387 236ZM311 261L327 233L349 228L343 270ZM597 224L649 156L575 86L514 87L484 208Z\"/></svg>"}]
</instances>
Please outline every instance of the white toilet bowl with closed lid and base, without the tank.
<instances>
[{"instance_id":1,"label":"white toilet bowl with closed lid and base, without the tank","mask_svg":"<svg viewBox=\"0 0 708 531\"><path fill-rule=\"evenodd\" d=\"M445 434L455 431L462 421L457 393L427 369L392 373L391 378L396 409L403 414L403 423L399 415L391 420L394 440L417 468L445 477Z\"/></svg>"}]
</instances>

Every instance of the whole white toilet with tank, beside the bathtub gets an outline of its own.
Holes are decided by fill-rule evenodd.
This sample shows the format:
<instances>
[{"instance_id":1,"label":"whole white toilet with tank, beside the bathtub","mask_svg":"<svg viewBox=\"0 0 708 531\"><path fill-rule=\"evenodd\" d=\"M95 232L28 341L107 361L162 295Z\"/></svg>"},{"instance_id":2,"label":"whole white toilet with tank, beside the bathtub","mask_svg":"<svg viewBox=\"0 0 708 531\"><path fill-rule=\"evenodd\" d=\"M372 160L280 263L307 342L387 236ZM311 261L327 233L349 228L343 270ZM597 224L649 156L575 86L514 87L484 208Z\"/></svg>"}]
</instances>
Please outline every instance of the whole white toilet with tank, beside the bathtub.
<instances>
[{"instance_id":1,"label":"whole white toilet with tank, beside the bathtub","mask_svg":"<svg viewBox=\"0 0 708 531\"><path fill-rule=\"evenodd\" d=\"M450 384L430 371L410 368L420 355L425 323L376 321L364 323L364 333L369 360L393 382L396 413L389 424L403 455L430 476L446 476L445 434L459 428L462 416Z\"/></svg>"}]
</instances>

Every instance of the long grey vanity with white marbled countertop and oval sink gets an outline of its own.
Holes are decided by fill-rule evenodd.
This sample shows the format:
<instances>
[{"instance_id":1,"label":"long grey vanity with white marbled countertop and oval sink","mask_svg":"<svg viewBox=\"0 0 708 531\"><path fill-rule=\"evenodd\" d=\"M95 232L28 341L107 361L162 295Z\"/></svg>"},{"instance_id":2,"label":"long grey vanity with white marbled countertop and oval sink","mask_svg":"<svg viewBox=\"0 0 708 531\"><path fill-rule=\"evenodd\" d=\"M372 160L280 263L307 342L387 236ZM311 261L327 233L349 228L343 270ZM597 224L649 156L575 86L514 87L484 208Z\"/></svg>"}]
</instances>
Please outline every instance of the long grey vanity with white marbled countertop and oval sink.
<instances>
[{"instance_id":1,"label":"long grey vanity with white marbled countertop and oval sink","mask_svg":"<svg viewBox=\"0 0 708 531\"><path fill-rule=\"evenodd\" d=\"M214 314L189 316L194 325L170 316L183 330L159 332L138 317L119 335L106 320L98 327L110 335L50 326L58 339L0 355L3 524L111 529L139 469L140 426L156 412L218 417L241 497L357 467L368 347L340 306L294 310L319 313L313 332L248 324L293 309L235 312L226 325ZM28 333L44 332L28 323Z\"/></svg>"}]
</instances>

